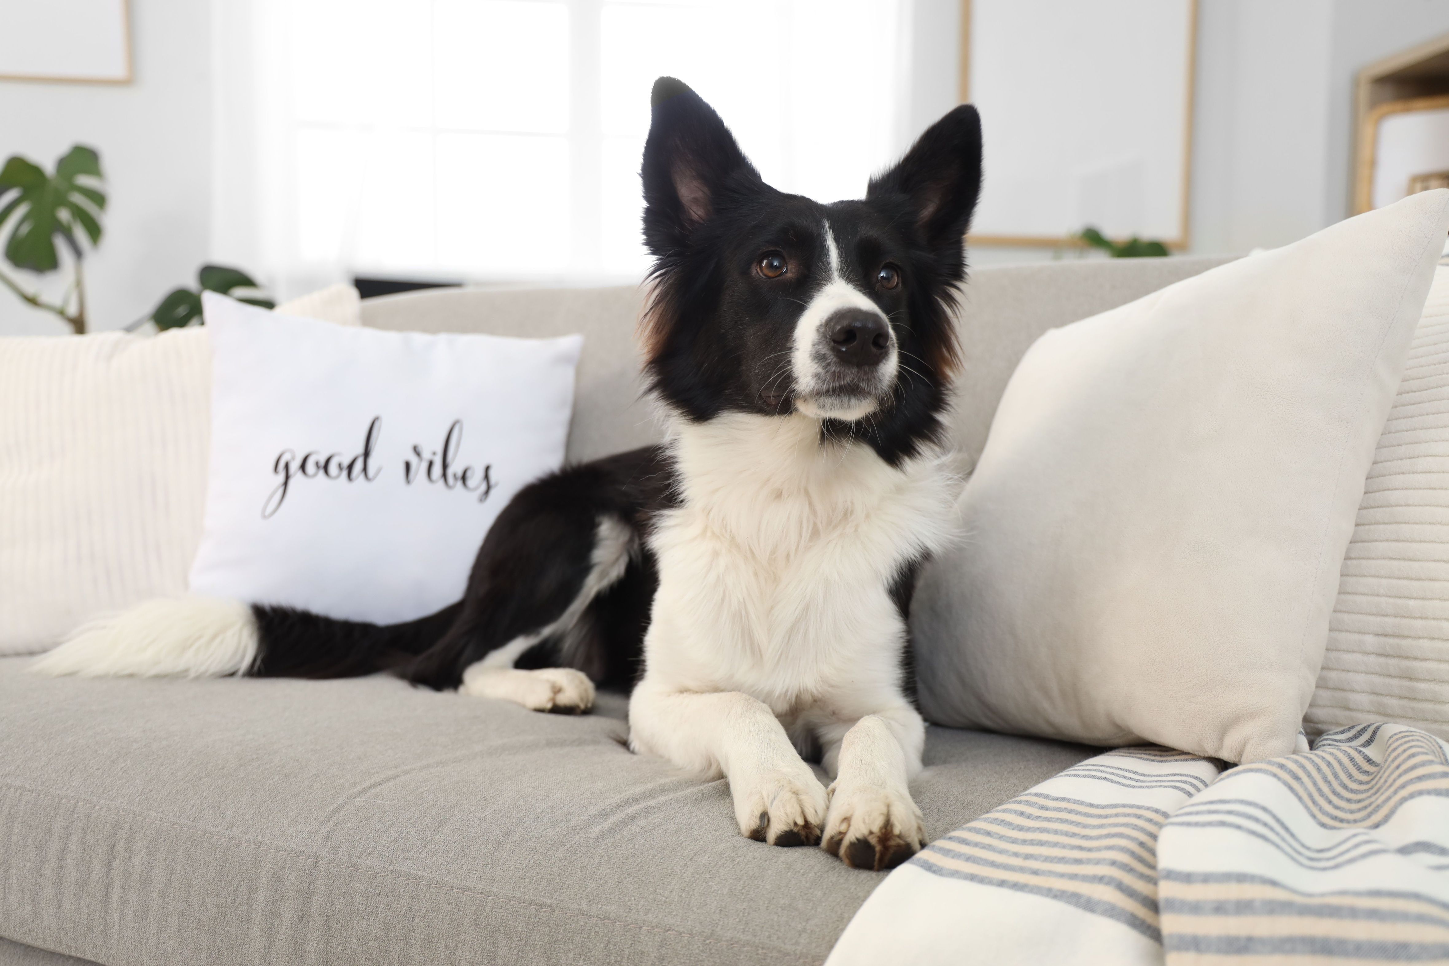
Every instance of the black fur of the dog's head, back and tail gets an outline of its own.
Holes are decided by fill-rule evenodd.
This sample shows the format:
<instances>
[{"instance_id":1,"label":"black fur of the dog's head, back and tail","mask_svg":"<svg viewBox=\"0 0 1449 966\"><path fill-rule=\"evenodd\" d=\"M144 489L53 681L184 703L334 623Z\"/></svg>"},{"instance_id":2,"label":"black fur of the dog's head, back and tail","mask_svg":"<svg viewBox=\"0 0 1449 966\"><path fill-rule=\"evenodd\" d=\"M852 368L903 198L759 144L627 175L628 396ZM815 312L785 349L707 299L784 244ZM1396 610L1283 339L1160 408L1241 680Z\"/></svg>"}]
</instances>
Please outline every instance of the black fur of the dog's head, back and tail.
<instances>
[{"instance_id":1,"label":"black fur of the dog's head, back and tail","mask_svg":"<svg viewBox=\"0 0 1449 966\"><path fill-rule=\"evenodd\" d=\"M827 271L829 224L842 271L890 320L901 372L890 403L856 423L826 420L832 439L868 443L887 463L942 434L940 416L959 346L952 323L964 280L962 238L981 181L981 127L962 106L927 130L864 200L820 204L767 185L719 116L672 78L656 81L643 155L645 240L655 256L652 298L640 320L651 388L681 419L726 411L791 411L788 362L803 306ZM793 266L756 271L762 253ZM894 288L872 278L890 265ZM658 578L649 521L677 497L675 468L653 446L564 469L520 491L478 552L464 600L388 627L254 605L256 676L338 678L391 671L429 688L455 688L491 650L555 621L591 566L597 521L635 533L622 579L584 611L568 646L543 639L516 668L572 666L603 686L627 688ZM914 566L893 597L904 614Z\"/></svg>"}]
</instances>

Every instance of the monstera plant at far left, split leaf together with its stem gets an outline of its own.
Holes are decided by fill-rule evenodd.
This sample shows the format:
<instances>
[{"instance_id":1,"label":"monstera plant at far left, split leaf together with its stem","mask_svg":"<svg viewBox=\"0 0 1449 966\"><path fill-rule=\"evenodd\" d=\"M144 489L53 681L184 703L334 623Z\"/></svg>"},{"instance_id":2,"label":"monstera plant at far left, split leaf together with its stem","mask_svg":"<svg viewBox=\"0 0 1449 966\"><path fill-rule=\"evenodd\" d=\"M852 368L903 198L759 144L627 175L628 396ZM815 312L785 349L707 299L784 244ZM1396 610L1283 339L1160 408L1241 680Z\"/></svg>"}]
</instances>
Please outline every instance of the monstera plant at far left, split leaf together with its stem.
<instances>
[{"instance_id":1,"label":"monstera plant at far left, split leaf together with its stem","mask_svg":"<svg viewBox=\"0 0 1449 966\"><path fill-rule=\"evenodd\" d=\"M106 210L100 156L94 149L75 145L55 162L55 174L19 155L0 168L0 238L4 256L16 268L39 275L61 268L64 246L71 268L71 284L59 303L49 303L39 293L26 291L19 281L0 271L0 284L45 311L55 313L77 335L85 332L85 277L81 262L88 248L100 243L101 213ZM6 227L9 224L9 229ZM88 240L88 245L87 245Z\"/></svg>"}]
</instances>

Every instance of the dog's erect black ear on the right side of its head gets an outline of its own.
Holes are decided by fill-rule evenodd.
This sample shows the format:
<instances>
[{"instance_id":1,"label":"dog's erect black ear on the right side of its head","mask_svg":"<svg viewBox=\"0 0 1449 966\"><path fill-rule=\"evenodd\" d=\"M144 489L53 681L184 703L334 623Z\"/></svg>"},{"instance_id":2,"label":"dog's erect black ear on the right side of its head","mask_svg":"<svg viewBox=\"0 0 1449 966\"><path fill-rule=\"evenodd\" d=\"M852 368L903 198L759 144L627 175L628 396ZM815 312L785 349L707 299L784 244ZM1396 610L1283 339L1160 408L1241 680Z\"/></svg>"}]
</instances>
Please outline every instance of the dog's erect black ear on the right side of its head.
<instances>
[{"instance_id":1,"label":"dog's erect black ear on the right side of its head","mask_svg":"<svg viewBox=\"0 0 1449 966\"><path fill-rule=\"evenodd\" d=\"M904 197L926 243L959 252L980 194L981 116L962 104L927 127L898 165L874 178L865 197Z\"/></svg>"}]
</instances>

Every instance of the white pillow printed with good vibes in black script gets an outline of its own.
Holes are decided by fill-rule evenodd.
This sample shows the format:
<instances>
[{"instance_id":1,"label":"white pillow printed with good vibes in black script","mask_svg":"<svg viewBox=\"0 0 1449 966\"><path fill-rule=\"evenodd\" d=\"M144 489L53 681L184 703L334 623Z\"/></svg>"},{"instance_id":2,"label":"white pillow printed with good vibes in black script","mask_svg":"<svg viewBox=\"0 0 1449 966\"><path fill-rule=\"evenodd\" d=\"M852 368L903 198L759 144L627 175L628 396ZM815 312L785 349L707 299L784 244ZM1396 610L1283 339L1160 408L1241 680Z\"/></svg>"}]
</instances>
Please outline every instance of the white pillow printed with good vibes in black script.
<instances>
[{"instance_id":1,"label":"white pillow printed with good vibes in black script","mask_svg":"<svg viewBox=\"0 0 1449 966\"><path fill-rule=\"evenodd\" d=\"M212 472L191 591L394 623L462 597L564 462L581 336L339 329L206 294Z\"/></svg>"}]
</instances>

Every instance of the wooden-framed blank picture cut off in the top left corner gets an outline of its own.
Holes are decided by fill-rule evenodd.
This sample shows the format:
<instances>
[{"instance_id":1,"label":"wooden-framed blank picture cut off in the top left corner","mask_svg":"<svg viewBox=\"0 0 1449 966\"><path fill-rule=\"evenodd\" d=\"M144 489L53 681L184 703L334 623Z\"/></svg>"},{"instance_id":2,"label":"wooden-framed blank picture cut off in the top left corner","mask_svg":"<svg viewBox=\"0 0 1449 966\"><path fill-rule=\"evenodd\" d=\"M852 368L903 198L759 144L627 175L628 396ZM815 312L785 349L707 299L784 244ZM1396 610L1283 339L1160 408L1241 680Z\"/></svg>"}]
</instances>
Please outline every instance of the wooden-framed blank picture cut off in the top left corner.
<instances>
[{"instance_id":1,"label":"wooden-framed blank picture cut off in the top left corner","mask_svg":"<svg viewBox=\"0 0 1449 966\"><path fill-rule=\"evenodd\" d=\"M0 81L130 84L130 0L0 0ZM46 67L46 65L54 67Z\"/></svg>"}]
</instances>

